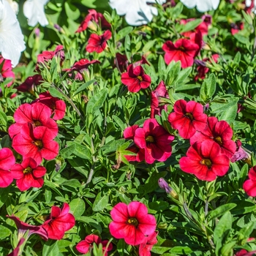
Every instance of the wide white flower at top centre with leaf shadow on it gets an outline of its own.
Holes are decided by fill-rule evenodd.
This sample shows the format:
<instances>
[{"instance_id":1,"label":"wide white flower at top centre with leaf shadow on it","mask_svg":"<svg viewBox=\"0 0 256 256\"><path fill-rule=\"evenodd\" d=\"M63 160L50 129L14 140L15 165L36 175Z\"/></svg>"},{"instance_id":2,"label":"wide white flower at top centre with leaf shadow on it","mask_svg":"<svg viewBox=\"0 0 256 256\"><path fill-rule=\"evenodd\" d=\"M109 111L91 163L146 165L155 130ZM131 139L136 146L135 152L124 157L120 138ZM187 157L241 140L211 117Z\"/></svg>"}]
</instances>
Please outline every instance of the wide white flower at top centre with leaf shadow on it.
<instances>
[{"instance_id":1,"label":"wide white flower at top centre with leaf shadow on it","mask_svg":"<svg viewBox=\"0 0 256 256\"><path fill-rule=\"evenodd\" d=\"M166 0L110 0L112 9L118 15L125 15L125 20L132 26L140 26L150 22L153 15L157 15L157 8L148 3L164 4Z\"/></svg>"}]
</instances>

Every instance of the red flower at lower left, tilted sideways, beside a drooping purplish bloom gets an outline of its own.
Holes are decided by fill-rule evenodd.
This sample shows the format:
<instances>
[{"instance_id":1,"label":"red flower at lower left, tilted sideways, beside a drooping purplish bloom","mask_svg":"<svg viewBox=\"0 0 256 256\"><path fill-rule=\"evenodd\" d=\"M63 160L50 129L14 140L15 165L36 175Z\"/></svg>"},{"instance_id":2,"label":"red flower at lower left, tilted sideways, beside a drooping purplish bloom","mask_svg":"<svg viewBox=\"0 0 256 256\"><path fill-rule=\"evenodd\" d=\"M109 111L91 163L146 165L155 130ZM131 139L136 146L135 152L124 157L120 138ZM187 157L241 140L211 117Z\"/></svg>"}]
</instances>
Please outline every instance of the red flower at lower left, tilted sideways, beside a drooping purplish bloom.
<instances>
[{"instance_id":1,"label":"red flower at lower left, tilted sideways, beside a drooping purplish bloom","mask_svg":"<svg viewBox=\"0 0 256 256\"><path fill-rule=\"evenodd\" d=\"M75 217L69 213L69 205L64 203L62 208L58 206L51 208L50 217L42 224L42 227L45 228L50 239L60 240L74 225Z\"/></svg>"}]
</instances>

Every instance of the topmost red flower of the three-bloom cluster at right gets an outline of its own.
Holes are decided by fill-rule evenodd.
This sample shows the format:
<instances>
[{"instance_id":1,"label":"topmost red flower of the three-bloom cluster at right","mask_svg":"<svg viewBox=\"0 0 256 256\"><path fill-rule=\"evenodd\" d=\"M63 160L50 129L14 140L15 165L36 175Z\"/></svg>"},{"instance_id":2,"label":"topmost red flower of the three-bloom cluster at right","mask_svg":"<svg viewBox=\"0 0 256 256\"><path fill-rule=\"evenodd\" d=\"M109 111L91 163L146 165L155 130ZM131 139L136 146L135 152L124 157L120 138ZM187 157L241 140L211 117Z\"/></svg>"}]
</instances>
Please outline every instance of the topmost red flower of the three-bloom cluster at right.
<instances>
[{"instance_id":1,"label":"topmost red flower of the three-bloom cluster at right","mask_svg":"<svg viewBox=\"0 0 256 256\"><path fill-rule=\"evenodd\" d=\"M202 131L206 127L207 116L203 113L203 105L184 99L179 99L173 106L174 112L168 116L168 121L174 129L178 129L179 135L189 139L196 131Z\"/></svg>"}]
</instances>

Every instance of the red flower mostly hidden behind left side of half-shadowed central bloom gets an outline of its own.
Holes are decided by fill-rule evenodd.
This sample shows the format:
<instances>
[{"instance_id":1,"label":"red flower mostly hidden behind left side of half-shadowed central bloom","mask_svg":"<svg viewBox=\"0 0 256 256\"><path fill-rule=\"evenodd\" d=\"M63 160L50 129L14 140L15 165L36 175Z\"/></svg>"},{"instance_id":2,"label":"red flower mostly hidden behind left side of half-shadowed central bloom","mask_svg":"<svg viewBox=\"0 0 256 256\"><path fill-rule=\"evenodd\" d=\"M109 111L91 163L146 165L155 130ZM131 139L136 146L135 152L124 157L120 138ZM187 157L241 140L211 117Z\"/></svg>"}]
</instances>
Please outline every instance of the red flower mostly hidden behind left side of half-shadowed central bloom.
<instances>
[{"instance_id":1,"label":"red flower mostly hidden behind left side of half-shadowed central bloom","mask_svg":"<svg viewBox=\"0 0 256 256\"><path fill-rule=\"evenodd\" d=\"M137 124L132 125L131 127L127 127L126 129L124 129L124 138L127 140L134 140L135 137L135 130L138 128L139 126ZM128 161L138 161L141 162L145 159L144 157L144 149L143 148L139 148L136 145L132 145L129 148L127 148L127 150L132 151L133 153L136 153L137 155L135 156L124 156L126 157L126 159Z\"/></svg>"}]
</instances>

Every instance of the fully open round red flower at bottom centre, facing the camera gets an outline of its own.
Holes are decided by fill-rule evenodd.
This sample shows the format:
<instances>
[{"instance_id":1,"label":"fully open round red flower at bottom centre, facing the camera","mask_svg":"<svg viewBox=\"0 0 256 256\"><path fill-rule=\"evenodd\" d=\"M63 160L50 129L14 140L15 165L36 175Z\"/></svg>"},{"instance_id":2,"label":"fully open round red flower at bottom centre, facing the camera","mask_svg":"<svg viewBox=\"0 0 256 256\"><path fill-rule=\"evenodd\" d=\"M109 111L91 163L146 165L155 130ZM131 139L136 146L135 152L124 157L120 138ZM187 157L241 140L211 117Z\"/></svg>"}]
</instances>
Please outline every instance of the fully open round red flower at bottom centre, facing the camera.
<instances>
[{"instance_id":1,"label":"fully open round red flower at bottom centre, facing the camera","mask_svg":"<svg viewBox=\"0 0 256 256\"><path fill-rule=\"evenodd\" d=\"M118 203L110 211L113 222L110 222L110 234L114 238L124 238L130 245L142 244L145 236L150 236L157 227L156 218L148 214L143 203Z\"/></svg>"}]
</instances>

